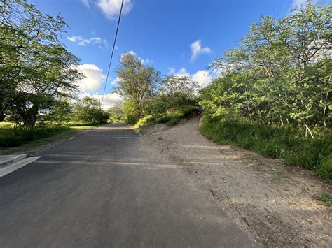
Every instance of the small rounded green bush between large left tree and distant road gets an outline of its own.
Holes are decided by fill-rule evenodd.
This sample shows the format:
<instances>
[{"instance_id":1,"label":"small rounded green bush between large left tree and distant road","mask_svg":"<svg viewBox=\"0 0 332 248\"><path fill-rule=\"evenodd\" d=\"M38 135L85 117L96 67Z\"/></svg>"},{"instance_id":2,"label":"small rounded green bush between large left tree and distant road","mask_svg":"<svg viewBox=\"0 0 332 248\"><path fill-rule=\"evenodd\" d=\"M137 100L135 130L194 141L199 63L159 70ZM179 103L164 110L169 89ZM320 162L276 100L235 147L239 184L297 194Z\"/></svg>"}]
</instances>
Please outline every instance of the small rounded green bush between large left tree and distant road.
<instances>
[{"instance_id":1,"label":"small rounded green bush between large left tree and distant road","mask_svg":"<svg viewBox=\"0 0 332 248\"><path fill-rule=\"evenodd\" d=\"M109 113L102 110L97 99L85 96L74 104L74 120L76 122L106 123Z\"/></svg>"}]
</instances>

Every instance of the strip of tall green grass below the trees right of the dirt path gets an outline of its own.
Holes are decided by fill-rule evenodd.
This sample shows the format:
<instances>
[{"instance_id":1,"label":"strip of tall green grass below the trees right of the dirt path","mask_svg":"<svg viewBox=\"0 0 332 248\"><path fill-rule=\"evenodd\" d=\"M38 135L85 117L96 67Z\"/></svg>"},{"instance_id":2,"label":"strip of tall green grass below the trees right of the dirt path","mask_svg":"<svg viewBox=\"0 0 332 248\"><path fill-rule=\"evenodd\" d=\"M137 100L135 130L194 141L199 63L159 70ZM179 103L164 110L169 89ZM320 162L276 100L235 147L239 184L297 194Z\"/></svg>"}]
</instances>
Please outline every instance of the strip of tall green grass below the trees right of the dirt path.
<instances>
[{"instance_id":1,"label":"strip of tall green grass below the trees right of the dirt path","mask_svg":"<svg viewBox=\"0 0 332 248\"><path fill-rule=\"evenodd\" d=\"M263 156L283 159L286 164L315 170L319 177L332 182L332 138L305 138L291 129L280 129L204 117L203 136L222 145L237 145Z\"/></svg>"}]
</instances>

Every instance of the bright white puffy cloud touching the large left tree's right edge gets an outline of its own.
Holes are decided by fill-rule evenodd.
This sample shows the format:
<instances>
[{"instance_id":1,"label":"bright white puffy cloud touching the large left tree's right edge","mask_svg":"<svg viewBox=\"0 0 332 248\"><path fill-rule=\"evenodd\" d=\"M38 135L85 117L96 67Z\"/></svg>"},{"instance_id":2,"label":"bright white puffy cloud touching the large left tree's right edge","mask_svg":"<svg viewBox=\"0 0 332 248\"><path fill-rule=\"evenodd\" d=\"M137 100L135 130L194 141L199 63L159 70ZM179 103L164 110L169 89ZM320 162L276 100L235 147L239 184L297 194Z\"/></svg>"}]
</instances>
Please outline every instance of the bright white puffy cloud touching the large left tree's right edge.
<instances>
[{"instance_id":1,"label":"bright white puffy cloud touching the large left tree's right edge","mask_svg":"<svg viewBox=\"0 0 332 248\"><path fill-rule=\"evenodd\" d=\"M102 69L95 64L80 64L77 69L85 75L85 78L77 82L79 89L83 92L96 91L102 86L102 80L106 78Z\"/></svg>"}]
</instances>

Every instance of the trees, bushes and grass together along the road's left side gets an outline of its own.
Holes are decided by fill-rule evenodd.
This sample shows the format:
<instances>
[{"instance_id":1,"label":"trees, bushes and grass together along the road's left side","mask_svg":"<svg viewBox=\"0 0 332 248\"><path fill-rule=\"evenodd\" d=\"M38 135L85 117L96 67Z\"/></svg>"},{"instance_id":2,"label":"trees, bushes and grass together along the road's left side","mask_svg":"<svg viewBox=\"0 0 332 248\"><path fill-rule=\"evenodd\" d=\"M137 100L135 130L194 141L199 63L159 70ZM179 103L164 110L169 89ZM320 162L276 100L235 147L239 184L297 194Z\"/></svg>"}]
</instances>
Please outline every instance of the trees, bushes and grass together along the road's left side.
<instances>
[{"instance_id":1,"label":"trees, bushes and grass together along the road's left side","mask_svg":"<svg viewBox=\"0 0 332 248\"><path fill-rule=\"evenodd\" d=\"M24 0L1 1L0 147L71 136L109 114L99 101L78 99L79 59L60 42L67 24Z\"/></svg>"}]
</instances>

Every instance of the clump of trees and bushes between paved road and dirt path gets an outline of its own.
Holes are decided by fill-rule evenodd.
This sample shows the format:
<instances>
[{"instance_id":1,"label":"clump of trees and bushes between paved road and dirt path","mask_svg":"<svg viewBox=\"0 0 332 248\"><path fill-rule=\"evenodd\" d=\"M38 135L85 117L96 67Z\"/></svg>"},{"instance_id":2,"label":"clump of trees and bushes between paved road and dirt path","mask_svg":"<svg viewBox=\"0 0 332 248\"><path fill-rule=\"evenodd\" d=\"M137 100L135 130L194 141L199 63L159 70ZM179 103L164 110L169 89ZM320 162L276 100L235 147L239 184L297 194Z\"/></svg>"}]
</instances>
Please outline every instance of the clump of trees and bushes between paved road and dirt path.
<instances>
[{"instance_id":1,"label":"clump of trees and bushes between paved road and dirt path","mask_svg":"<svg viewBox=\"0 0 332 248\"><path fill-rule=\"evenodd\" d=\"M198 84L188 76L161 76L130 53L120 59L117 73L114 92L124 100L108 110L112 122L135 124L143 131L157 123L177 124L195 110Z\"/></svg>"}]
</instances>

